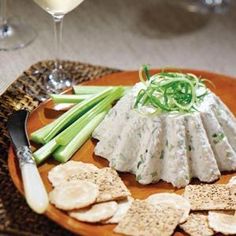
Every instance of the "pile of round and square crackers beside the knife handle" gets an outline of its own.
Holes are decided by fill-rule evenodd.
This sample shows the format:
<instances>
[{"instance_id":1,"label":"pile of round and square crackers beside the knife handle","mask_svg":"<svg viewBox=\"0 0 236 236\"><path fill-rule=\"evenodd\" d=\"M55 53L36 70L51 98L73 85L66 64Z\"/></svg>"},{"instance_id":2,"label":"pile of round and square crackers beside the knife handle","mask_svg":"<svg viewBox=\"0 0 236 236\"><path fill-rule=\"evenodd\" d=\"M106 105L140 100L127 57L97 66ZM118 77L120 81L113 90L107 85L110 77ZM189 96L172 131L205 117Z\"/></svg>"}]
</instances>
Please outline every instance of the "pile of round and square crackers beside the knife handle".
<instances>
[{"instance_id":1,"label":"pile of round and square crackers beside the knife handle","mask_svg":"<svg viewBox=\"0 0 236 236\"><path fill-rule=\"evenodd\" d=\"M53 185L49 200L83 222L118 223L128 210L130 192L111 168L69 161L48 174Z\"/></svg>"}]
</instances>

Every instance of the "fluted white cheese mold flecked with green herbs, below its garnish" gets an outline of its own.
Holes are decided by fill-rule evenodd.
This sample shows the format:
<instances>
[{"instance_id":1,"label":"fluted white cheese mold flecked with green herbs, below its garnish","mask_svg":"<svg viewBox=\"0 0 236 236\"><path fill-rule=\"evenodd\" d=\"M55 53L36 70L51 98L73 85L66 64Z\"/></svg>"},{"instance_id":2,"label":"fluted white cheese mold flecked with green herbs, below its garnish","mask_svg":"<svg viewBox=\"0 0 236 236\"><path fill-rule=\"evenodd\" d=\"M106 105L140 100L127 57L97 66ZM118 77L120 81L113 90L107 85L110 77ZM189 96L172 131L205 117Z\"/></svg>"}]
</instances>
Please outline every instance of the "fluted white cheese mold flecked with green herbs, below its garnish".
<instances>
[{"instance_id":1,"label":"fluted white cheese mold flecked with green herbs, below its garnish","mask_svg":"<svg viewBox=\"0 0 236 236\"><path fill-rule=\"evenodd\" d=\"M143 115L133 106L142 83L121 98L95 129L95 154L141 184L164 180L175 187L192 178L217 180L236 170L236 119L210 90L197 111ZM148 108L145 108L148 109Z\"/></svg>"}]
</instances>

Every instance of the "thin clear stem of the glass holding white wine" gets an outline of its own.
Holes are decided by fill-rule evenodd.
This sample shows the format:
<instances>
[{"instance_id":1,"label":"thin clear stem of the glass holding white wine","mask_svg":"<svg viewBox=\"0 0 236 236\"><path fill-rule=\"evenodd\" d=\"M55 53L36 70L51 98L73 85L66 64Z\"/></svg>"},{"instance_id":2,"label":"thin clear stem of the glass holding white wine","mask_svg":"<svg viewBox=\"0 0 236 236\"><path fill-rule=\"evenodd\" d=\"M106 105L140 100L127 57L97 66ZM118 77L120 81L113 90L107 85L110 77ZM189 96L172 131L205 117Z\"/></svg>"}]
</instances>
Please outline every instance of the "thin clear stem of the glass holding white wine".
<instances>
[{"instance_id":1,"label":"thin clear stem of the glass holding white wine","mask_svg":"<svg viewBox=\"0 0 236 236\"><path fill-rule=\"evenodd\" d=\"M62 25L64 15L54 15L54 37L55 37L55 70L59 70L60 55L61 55L61 43L62 43Z\"/></svg>"}]
</instances>

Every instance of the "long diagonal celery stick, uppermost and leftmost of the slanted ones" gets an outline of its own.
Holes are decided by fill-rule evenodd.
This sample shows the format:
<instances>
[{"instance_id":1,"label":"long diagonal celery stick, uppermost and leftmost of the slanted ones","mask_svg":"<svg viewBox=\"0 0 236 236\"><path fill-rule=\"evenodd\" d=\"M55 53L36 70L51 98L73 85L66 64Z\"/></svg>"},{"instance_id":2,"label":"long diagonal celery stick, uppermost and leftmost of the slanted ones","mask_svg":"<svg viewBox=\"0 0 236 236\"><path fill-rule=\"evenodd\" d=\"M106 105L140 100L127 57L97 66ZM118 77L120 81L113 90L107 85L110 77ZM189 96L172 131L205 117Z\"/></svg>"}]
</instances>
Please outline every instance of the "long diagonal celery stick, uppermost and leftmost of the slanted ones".
<instances>
[{"instance_id":1,"label":"long diagonal celery stick, uppermost and leftmost of the slanted ones","mask_svg":"<svg viewBox=\"0 0 236 236\"><path fill-rule=\"evenodd\" d=\"M59 133L66 126L70 125L76 118L104 99L111 92L113 92L113 89L108 88L88 100L80 102L49 125L46 125L43 128L31 133L31 140L42 144L49 142L57 133Z\"/></svg>"}]
</instances>

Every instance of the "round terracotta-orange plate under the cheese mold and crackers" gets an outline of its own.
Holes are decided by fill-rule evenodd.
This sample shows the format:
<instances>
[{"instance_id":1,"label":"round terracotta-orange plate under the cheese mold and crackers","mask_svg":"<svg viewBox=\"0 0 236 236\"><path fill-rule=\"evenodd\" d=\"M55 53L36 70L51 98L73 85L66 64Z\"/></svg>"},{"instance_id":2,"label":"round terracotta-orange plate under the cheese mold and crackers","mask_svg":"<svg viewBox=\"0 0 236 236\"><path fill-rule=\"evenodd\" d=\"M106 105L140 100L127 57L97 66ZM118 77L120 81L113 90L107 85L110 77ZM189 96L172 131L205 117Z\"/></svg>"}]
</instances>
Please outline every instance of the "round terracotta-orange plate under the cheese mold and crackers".
<instances>
[{"instance_id":1,"label":"round terracotta-orange plate under the cheese mold and crackers","mask_svg":"<svg viewBox=\"0 0 236 236\"><path fill-rule=\"evenodd\" d=\"M160 70L153 70L152 73L158 72ZM198 76L202 76L214 82L216 88L211 89L221 97L221 99L229 106L234 114L236 114L236 79L230 78L224 75L213 74L205 71L196 71L196 70L185 70L185 69L168 69L168 71L182 71L182 72L191 72ZM87 82L88 85L133 85L138 82L138 72L123 72L116 73L99 78L94 81ZM37 130L38 128L48 124L52 120L56 119L60 114L52 110L53 103L52 101L47 101L41 104L36 110L34 110L28 120L28 131L29 133ZM88 140L80 150L74 155L74 160L79 160L83 162L93 163L97 167L108 166L108 162L100 157L94 155L93 150L95 146L95 140ZM32 147L35 148L34 144ZM42 176L43 182L49 192L51 190L51 184L47 179L48 171L57 165L58 162L53 161L49 158L47 162L42 164L39 167L40 174ZM17 159L14 156L12 147L9 149L9 158L8 166L12 180L17 187L17 189L24 194L22 187L22 180L20 171L18 168ZM226 183L228 179L233 175L233 173L225 173L222 175L219 183ZM182 193L183 189L173 188L170 184L165 182L159 182L157 184L150 185L140 185L135 181L135 178L131 174L120 173L120 176L126 186L132 193L134 198L144 199L152 193L156 192L177 192ZM101 224L86 224L78 222L70 218L65 212L56 209L54 206L50 205L45 212L45 215L50 219L68 229L69 231L80 234L80 235L116 235L113 233L113 228L115 225L101 225ZM184 235L180 230L176 231L174 235Z\"/></svg>"}]
</instances>

